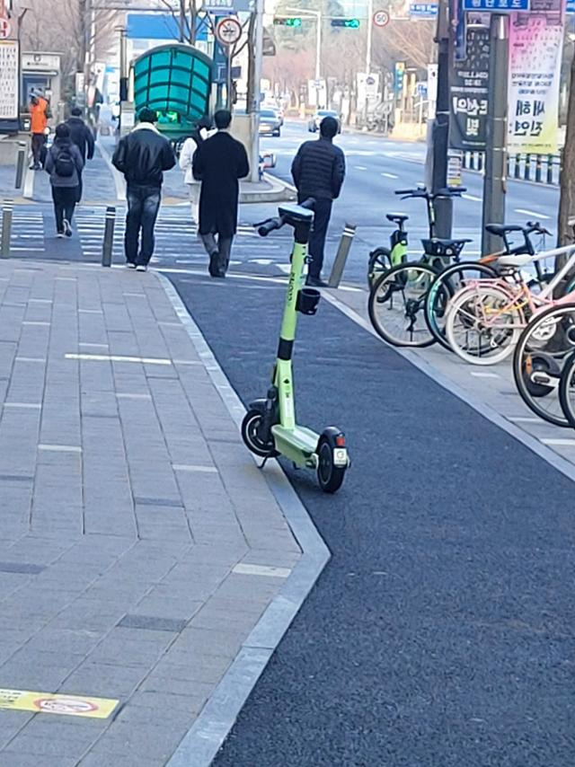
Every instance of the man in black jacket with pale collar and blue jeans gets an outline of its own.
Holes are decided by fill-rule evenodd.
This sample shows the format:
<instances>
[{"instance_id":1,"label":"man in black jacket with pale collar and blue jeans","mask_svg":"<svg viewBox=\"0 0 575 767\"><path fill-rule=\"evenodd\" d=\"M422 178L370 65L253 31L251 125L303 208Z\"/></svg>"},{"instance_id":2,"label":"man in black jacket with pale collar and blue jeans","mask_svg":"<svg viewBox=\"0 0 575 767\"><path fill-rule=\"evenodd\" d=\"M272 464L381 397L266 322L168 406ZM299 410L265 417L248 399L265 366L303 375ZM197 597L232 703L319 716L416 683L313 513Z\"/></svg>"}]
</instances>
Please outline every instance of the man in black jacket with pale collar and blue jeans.
<instances>
[{"instance_id":1,"label":"man in black jacket with pale collar and blue jeans","mask_svg":"<svg viewBox=\"0 0 575 767\"><path fill-rule=\"evenodd\" d=\"M112 163L126 179L124 249L128 269L146 271L154 254L154 226L160 209L164 171L176 163L173 148L155 127L156 113L144 108L137 126L120 138ZM140 242L141 233L141 242Z\"/></svg>"}]
</instances>

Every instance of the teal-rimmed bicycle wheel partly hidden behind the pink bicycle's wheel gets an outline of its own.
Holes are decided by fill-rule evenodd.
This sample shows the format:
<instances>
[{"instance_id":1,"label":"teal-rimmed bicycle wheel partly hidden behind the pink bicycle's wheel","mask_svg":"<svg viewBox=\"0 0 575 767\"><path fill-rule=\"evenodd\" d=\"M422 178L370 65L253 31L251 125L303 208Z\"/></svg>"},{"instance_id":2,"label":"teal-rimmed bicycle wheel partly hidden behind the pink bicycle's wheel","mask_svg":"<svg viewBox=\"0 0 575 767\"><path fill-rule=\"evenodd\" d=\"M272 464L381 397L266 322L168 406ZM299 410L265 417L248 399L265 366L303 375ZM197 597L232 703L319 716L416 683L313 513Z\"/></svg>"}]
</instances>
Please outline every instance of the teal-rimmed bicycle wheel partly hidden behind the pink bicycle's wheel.
<instances>
[{"instance_id":1,"label":"teal-rimmed bicycle wheel partly hidden behind the pink bicycle's wheel","mask_svg":"<svg viewBox=\"0 0 575 767\"><path fill-rule=\"evenodd\" d=\"M439 272L435 282L429 288L424 311L429 332L442 347L451 350L446 338L447 305L451 298L464 287L466 281L495 277L497 277L495 269L477 261L452 264Z\"/></svg>"}]
</instances>

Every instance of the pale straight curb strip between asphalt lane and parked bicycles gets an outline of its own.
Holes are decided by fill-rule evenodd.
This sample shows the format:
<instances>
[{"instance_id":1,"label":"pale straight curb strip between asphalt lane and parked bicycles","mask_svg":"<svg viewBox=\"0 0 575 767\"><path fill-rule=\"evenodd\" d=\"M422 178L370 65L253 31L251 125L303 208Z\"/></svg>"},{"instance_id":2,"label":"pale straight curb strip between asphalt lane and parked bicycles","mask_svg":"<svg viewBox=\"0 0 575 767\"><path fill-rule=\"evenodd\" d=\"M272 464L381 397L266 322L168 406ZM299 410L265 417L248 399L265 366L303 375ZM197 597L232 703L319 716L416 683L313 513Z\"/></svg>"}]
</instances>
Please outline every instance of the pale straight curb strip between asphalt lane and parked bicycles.
<instances>
[{"instance_id":1,"label":"pale straight curb strip between asphalt lane and parked bicycles","mask_svg":"<svg viewBox=\"0 0 575 767\"><path fill-rule=\"evenodd\" d=\"M376 331L374 331L374 329L371 327L371 325L366 320L364 320L363 317L361 317L354 309L340 301L336 295L332 295L327 291L323 291L323 295L329 301L329 303L332 304L332 306L335 306L336 309L339 309L342 314L345 314L347 317L349 317L350 320L356 322L361 328L364 328L364 330L371 333L374 338L385 344L385 340L381 339L377 335ZM385 346L387 346L387 344L385 344ZM401 357L406 359L408 362L411 362L411 365L417 367L421 373L428 375L429 378L438 383L439 386L446 389L447 392L451 392L457 397L457 399L463 401L466 405L469 405L469 407L473 408L473 410L476 410L484 419L491 421L494 426L497 426L503 431L506 431L509 436L517 439L517 442L521 442L526 446L526 448L531 450L532 453L535 453L544 461L546 461L546 463L552 465L553 468L558 472L564 474L567 479L575 482L575 466L570 461L567 461L567 459L563 458L562 455L555 453L550 447L542 445L535 438L535 436L531 436L530 434L527 434L526 431L523 431L522 428L515 426L515 424L511 423L504 416L500 415L497 410L494 410L491 405L488 405L486 402L479 400L473 394L465 392L461 386L459 386L457 383L453 383L453 381L450 381L446 375L440 373L435 367L431 366L429 362L422 360L409 349L396 347L390 348L393 348L394 351L396 351Z\"/></svg>"}]
</instances>

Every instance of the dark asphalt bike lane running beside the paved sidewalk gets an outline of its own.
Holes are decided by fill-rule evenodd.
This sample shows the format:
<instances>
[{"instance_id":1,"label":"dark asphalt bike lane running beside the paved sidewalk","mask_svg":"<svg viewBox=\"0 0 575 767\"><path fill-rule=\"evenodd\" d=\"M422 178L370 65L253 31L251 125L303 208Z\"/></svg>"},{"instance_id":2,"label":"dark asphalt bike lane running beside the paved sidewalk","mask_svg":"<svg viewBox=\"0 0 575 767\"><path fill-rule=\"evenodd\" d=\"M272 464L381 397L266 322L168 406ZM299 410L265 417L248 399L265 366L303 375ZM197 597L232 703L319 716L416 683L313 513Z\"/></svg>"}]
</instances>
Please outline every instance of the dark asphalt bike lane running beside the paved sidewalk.
<instances>
[{"instance_id":1,"label":"dark asphalt bike lane running beside the paved sidewalk","mask_svg":"<svg viewBox=\"0 0 575 767\"><path fill-rule=\"evenodd\" d=\"M283 288L172 277L263 396ZM214 764L571 767L571 480L326 302L295 369L298 421L352 466L335 496L286 466L332 560Z\"/></svg>"}]
</instances>

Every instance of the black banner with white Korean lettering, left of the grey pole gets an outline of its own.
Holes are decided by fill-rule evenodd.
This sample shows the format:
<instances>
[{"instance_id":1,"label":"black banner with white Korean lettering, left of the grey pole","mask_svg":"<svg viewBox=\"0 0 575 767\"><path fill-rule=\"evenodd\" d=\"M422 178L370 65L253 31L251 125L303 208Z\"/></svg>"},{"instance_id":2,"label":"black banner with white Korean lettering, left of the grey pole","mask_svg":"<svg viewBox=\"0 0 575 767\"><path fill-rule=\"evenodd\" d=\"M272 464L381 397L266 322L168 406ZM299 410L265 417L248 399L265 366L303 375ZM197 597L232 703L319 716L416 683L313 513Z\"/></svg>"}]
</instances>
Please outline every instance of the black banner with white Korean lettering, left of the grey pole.
<instances>
[{"instance_id":1,"label":"black banner with white Korean lettering, left of the grey pole","mask_svg":"<svg viewBox=\"0 0 575 767\"><path fill-rule=\"evenodd\" d=\"M487 137L489 28L469 27L465 50L466 57L451 71L449 145L481 152Z\"/></svg>"}]
</instances>

